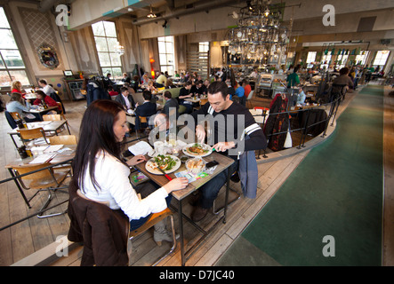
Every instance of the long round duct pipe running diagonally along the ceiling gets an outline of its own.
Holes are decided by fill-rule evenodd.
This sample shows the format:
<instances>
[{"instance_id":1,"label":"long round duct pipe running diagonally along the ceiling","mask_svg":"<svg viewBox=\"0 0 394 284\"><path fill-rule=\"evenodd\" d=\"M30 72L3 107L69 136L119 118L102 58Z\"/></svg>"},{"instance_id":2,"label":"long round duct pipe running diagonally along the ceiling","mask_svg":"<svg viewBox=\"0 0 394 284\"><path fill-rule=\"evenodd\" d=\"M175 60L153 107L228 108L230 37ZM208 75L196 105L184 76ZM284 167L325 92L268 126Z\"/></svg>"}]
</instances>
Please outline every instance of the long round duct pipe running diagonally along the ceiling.
<instances>
[{"instance_id":1,"label":"long round duct pipe running diagonally along the ceiling","mask_svg":"<svg viewBox=\"0 0 394 284\"><path fill-rule=\"evenodd\" d=\"M184 9L180 9L170 13L165 13L164 15L161 15L154 19L143 18L143 19L135 20L134 25L149 24L151 22L156 22L157 20L169 20L197 12L204 12L204 11L209 12L213 9L219 9L228 6L229 4L237 4L239 2L240 2L239 0L215 0L215 1L204 2L202 4L198 4L198 2L196 2L195 4L191 4Z\"/></svg>"}]
</instances>

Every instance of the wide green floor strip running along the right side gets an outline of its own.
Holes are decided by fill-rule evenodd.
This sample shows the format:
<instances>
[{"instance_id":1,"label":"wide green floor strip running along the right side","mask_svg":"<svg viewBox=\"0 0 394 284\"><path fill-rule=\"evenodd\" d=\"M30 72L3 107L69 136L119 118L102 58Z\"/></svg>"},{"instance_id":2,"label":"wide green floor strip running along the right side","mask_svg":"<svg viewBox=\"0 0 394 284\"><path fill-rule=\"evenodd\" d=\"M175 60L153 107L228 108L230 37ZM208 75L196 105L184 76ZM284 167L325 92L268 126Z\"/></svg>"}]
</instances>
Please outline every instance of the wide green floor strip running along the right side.
<instances>
[{"instance_id":1,"label":"wide green floor strip running along the right side","mask_svg":"<svg viewBox=\"0 0 394 284\"><path fill-rule=\"evenodd\" d=\"M382 107L360 91L217 265L381 265Z\"/></svg>"}]
</instances>

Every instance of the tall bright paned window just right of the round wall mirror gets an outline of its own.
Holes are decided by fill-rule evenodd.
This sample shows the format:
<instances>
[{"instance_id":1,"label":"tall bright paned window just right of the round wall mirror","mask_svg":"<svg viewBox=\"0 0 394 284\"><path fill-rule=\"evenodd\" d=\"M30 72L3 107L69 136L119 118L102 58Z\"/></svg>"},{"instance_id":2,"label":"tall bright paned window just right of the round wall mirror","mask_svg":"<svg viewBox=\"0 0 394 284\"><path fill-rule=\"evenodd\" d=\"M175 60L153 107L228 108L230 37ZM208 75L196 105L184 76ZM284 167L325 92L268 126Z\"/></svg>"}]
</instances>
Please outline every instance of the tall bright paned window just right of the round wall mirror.
<instances>
[{"instance_id":1,"label":"tall bright paned window just right of the round wall mirror","mask_svg":"<svg viewBox=\"0 0 394 284\"><path fill-rule=\"evenodd\" d=\"M99 56L102 75L122 76L122 61L117 52L117 28L112 21L100 21L92 24L94 40Z\"/></svg>"}]
</instances>

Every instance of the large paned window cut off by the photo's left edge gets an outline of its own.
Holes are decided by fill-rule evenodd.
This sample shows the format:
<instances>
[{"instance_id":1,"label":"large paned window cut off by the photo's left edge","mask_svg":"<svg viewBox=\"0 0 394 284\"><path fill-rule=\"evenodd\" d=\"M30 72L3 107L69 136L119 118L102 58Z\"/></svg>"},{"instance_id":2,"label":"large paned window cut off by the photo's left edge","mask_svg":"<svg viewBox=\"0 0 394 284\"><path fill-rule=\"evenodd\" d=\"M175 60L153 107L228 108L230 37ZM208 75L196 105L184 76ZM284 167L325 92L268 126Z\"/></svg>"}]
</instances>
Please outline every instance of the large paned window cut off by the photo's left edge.
<instances>
[{"instance_id":1,"label":"large paned window cut off by the photo's left edge","mask_svg":"<svg viewBox=\"0 0 394 284\"><path fill-rule=\"evenodd\" d=\"M3 7L0 7L0 86L11 86L14 81L30 84L10 24Z\"/></svg>"}]
</instances>

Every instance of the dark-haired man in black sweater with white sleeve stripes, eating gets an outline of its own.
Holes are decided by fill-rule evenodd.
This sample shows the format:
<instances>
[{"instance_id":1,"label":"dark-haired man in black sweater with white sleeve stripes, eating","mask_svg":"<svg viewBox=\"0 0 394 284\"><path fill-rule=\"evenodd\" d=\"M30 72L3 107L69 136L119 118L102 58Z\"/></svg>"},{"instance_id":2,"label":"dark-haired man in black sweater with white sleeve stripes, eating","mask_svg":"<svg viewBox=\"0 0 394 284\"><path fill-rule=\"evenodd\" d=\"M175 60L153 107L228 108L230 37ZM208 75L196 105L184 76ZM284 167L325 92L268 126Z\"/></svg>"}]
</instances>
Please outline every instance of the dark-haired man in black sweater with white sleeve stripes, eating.
<instances>
[{"instance_id":1,"label":"dark-haired man in black sweater with white sleeve stripes, eating","mask_svg":"<svg viewBox=\"0 0 394 284\"><path fill-rule=\"evenodd\" d=\"M229 169L233 173L237 170L238 156L244 151L265 149L267 147L267 139L261 127L254 121L249 110L245 106L236 104L229 99L228 89L227 84L224 82L217 81L210 84L208 88L209 104L205 104L191 115L197 125L196 135L198 142L201 143L205 141L205 120L201 121L201 114L203 116L207 114L213 116L216 122L213 123L214 125L211 128L213 134L209 138L212 141L210 145L213 144L216 152L234 159L235 162ZM216 120L216 116L218 116L218 120ZM219 125L223 120L225 125ZM240 125L239 129L238 124ZM249 138L245 139L244 135L247 135ZM227 170L222 171L200 187L197 208L194 209L191 216L195 222L203 219L208 209L213 207L213 201L218 196L221 186L225 185L227 181L227 173Z\"/></svg>"}]
</instances>

